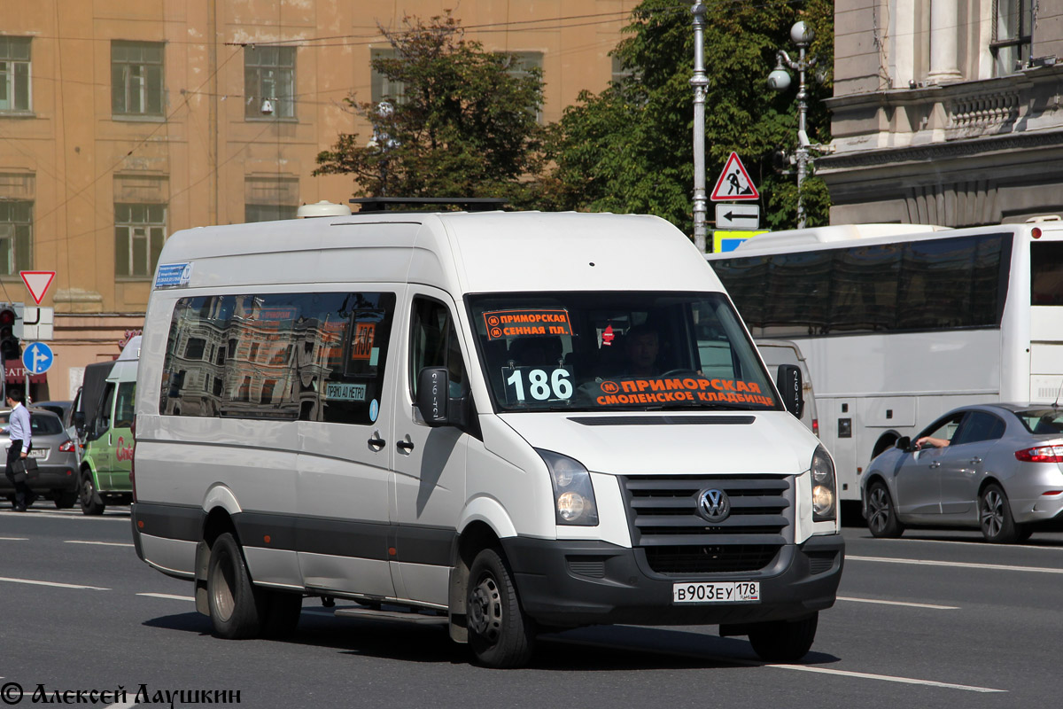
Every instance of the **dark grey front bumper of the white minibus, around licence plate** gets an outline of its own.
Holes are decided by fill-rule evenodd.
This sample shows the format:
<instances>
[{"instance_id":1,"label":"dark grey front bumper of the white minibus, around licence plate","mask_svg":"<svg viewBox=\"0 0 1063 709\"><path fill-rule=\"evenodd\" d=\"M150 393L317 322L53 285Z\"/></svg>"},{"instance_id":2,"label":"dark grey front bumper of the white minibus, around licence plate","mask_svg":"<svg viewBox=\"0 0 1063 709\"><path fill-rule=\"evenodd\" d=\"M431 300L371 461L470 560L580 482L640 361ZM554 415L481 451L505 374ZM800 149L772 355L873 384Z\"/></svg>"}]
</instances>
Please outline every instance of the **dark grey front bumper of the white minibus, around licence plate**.
<instances>
[{"instance_id":1,"label":"dark grey front bumper of the white minibus, around licence plate","mask_svg":"<svg viewBox=\"0 0 1063 709\"><path fill-rule=\"evenodd\" d=\"M790 620L833 605L845 558L841 535L787 544L763 570L653 572L641 548L595 541L502 540L525 612L556 626L715 625ZM672 603L675 583L760 581L759 603Z\"/></svg>"}]
</instances>

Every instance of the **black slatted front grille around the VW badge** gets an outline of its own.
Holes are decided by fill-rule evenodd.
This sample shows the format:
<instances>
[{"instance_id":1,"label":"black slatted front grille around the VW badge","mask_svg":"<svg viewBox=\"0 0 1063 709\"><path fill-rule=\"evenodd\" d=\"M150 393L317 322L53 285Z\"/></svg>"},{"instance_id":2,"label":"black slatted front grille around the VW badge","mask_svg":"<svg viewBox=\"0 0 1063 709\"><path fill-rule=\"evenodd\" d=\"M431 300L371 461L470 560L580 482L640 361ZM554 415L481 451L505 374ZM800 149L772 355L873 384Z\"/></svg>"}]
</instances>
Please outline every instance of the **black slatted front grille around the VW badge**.
<instances>
[{"instance_id":1,"label":"black slatted front grille around the VW badge","mask_svg":"<svg viewBox=\"0 0 1063 709\"><path fill-rule=\"evenodd\" d=\"M631 541L659 574L758 571L793 540L793 478L632 475L622 477ZM708 522L697 512L704 490L727 493L730 514Z\"/></svg>"}]
</instances>

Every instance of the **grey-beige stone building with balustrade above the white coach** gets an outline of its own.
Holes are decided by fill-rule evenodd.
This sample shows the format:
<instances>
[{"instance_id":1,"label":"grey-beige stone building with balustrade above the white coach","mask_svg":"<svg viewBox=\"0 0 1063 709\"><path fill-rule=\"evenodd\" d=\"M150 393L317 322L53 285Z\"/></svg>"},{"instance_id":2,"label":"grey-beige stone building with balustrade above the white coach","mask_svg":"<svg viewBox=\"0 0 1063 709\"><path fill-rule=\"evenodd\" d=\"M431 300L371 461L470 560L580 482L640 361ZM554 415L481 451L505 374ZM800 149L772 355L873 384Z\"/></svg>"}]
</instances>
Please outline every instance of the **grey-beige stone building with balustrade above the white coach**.
<instances>
[{"instance_id":1,"label":"grey-beige stone building with balustrade above the white coach","mask_svg":"<svg viewBox=\"0 0 1063 709\"><path fill-rule=\"evenodd\" d=\"M1063 0L837 0L831 223L1063 215Z\"/></svg>"}]
</instances>

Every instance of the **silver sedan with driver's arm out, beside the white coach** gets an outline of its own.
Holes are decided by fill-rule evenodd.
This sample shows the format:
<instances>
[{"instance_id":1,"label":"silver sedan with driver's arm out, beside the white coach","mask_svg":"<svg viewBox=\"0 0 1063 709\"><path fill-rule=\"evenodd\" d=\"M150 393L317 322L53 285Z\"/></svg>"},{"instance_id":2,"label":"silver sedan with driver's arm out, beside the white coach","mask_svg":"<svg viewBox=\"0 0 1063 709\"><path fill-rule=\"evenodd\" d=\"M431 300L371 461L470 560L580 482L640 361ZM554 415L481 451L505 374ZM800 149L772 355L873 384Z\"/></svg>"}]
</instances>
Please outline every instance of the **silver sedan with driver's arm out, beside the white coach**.
<instances>
[{"instance_id":1,"label":"silver sedan with driver's arm out, beside the white coach","mask_svg":"<svg viewBox=\"0 0 1063 709\"><path fill-rule=\"evenodd\" d=\"M979 527L986 541L1028 539L1063 513L1063 409L984 404L949 411L871 461L860 482L867 528Z\"/></svg>"}]
</instances>

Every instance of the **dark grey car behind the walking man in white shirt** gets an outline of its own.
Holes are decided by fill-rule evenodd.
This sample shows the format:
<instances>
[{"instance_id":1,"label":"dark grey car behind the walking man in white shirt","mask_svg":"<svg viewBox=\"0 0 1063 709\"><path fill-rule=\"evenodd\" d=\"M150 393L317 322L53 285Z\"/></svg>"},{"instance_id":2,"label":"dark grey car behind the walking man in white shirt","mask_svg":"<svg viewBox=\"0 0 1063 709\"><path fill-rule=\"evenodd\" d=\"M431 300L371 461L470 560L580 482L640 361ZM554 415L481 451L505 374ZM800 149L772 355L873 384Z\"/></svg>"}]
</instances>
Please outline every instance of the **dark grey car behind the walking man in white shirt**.
<instances>
[{"instance_id":1,"label":"dark grey car behind the walking man in white shirt","mask_svg":"<svg viewBox=\"0 0 1063 709\"><path fill-rule=\"evenodd\" d=\"M0 445L4 454L0 457L0 469L6 472L6 449L11 445L7 435L7 419L11 411L0 412ZM44 409L30 409L30 432L33 442L30 456L36 458L39 473L30 480L30 489L48 497L60 509L72 507L78 502L78 446L70 439L60 417ZM14 503L15 486L6 475L0 474L0 495Z\"/></svg>"}]
</instances>

